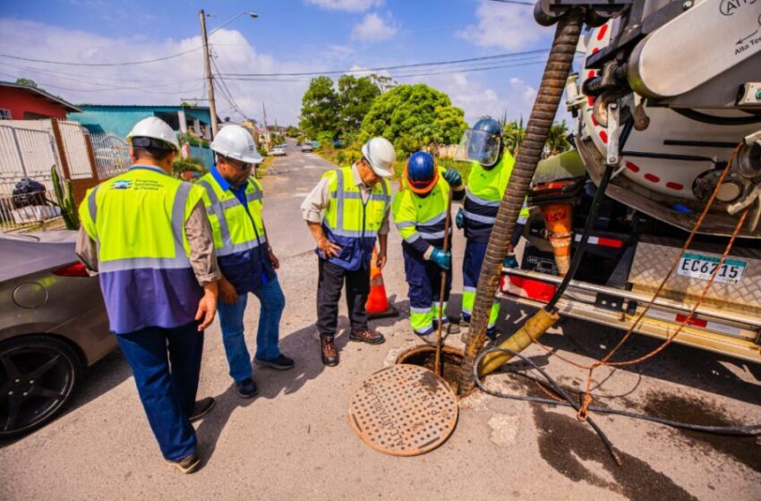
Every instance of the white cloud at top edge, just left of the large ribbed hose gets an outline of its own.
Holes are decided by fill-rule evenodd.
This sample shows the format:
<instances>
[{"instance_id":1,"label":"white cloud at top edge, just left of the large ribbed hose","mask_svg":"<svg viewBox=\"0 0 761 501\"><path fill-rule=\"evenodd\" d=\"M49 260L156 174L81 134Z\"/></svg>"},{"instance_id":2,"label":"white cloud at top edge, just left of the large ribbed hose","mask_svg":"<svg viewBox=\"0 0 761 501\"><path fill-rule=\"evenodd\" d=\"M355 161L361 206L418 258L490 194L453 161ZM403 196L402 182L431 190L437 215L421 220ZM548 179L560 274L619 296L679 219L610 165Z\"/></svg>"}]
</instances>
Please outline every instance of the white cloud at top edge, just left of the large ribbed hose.
<instances>
[{"instance_id":1,"label":"white cloud at top edge, just left of the large ribbed hose","mask_svg":"<svg viewBox=\"0 0 761 501\"><path fill-rule=\"evenodd\" d=\"M481 0L475 9L478 24L457 31L457 36L478 47L506 50L530 47L540 38L552 34L552 29L539 26L534 21L533 12L524 5Z\"/></svg>"}]
</instances>

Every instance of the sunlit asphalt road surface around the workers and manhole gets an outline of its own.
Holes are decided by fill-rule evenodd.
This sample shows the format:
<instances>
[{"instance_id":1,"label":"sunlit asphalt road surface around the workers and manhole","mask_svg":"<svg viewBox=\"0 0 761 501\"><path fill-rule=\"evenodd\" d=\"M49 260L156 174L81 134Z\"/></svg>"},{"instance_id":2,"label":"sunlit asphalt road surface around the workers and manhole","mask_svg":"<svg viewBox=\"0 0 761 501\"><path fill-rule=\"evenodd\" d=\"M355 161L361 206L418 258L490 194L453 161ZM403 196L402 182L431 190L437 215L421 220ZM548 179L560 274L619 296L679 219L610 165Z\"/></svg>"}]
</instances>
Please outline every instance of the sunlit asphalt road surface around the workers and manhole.
<instances>
[{"instance_id":1,"label":"sunlit asphalt road surface around the workers and manhole","mask_svg":"<svg viewBox=\"0 0 761 501\"><path fill-rule=\"evenodd\" d=\"M398 458L365 446L346 422L350 395L363 378L414 346L398 234L389 239L387 290L400 318L374 323L380 346L347 343L342 306L341 363L322 366L313 328L317 259L299 205L331 166L294 148L262 180L269 239L281 261L286 293L281 348L296 360L286 372L255 369L261 395L235 396L218 323L206 333L199 395L217 398L197 423L203 467L183 476L161 460L130 371L116 352L90 370L73 404L58 420L0 449L3 499L731 499L761 497L757 438L688 434L644 421L597 416L619 451L612 463L588 425L567 409L483 394L460 404L457 429L438 449ZM457 234L455 262L462 259ZM454 290L461 286L455 274ZM457 314L459 295L450 312ZM246 325L253 348L257 301ZM509 332L531 311L505 303L500 328ZM456 336L448 340L459 344ZM567 320L545 335L554 352L588 362L620 332ZM620 352L631 358L654 347L636 336ZM561 384L581 387L586 374L532 347ZM537 393L515 374L487 378L502 391ZM671 346L644 364L601 369L595 403L704 424L761 421L761 367Z\"/></svg>"}]
</instances>

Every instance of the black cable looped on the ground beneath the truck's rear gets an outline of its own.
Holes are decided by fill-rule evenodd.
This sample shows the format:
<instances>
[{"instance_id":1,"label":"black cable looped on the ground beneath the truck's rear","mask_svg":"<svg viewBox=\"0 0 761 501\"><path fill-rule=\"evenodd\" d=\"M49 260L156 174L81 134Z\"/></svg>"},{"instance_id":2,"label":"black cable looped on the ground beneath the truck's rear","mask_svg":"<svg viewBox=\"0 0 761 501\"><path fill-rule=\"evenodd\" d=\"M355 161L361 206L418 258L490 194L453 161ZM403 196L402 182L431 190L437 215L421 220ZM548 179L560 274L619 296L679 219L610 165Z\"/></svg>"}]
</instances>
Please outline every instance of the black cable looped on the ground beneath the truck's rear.
<instances>
[{"instance_id":1,"label":"black cable looped on the ground beneath the truck's rear","mask_svg":"<svg viewBox=\"0 0 761 501\"><path fill-rule=\"evenodd\" d=\"M552 400L551 398L543 398L541 396L528 396L528 395L515 395L515 394L502 393L500 391L492 390L483 386L483 381L478 375L478 367L481 364L483 357L493 352L509 353L510 355L513 355L521 359L522 361L525 361L526 364L528 364L532 369L535 369L537 372L539 372L542 375L542 377L544 378L544 381L546 382L546 385L550 386L552 391L554 391L557 395L562 397L564 402ZM536 365L534 361L531 361L525 355L522 355L519 352L514 352L513 350L509 350L508 348L494 347L489 350L485 350L481 352L481 354L479 354L478 358L475 360L475 366L473 369L473 378L475 380L475 385L478 386L478 388L481 391L492 396L497 396L500 398L509 398L511 400L523 400L523 401L532 402L532 403L543 403L546 405L560 405L562 407L572 407L573 409L576 409L577 411L579 408L579 404L558 384L558 382L555 381L552 377L550 377L550 375L548 375L541 367ZM617 416L624 416L624 417L633 418L636 420L646 420L646 421L650 421L650 422L654 422L658 424L663 424L666 426L671 426L673 428L691 429L694 431L701 431L703 433L714 433L718 435L733 435L733 436L740 436L740 437L755 437L757 435L761 435L761 423L748 425L748 426L708 426L708 425L687 423L687 422L678 421L678 420L667 420L665 418L650 416L648 414L643 414L639 412L621 411L620 409L599 407L597 405L590 405L588 409L594 412L614 414ZM589 421L589 419L587 419L587 421ZM590 422L590 424L592 423ZM594 425L593 425L593 428L594 428ZM598 435L600 435L599 432L598 432ZM609 442L606 441L607 439L604 438L603 435L601 435L600 437L603 438L603 442L605 442L605 446L608 446Z\"/></svg>"}]
</instances>

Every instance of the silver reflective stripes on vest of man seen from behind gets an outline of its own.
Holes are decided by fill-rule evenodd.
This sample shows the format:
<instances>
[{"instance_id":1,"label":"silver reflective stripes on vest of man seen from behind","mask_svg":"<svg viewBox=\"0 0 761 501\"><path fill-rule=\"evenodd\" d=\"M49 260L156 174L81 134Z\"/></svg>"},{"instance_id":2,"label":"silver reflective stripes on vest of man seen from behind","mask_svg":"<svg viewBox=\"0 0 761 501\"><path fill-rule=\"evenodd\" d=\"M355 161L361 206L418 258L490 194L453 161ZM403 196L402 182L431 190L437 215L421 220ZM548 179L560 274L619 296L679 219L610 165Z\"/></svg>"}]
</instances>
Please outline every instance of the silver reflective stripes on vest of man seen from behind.
<instances>
[{"instance_id":1,"label":"silver reflective stripes on vest of man seen from behind","mask_svg":"<svg viewBox=\"0 0 761 501\"><path fill-rule=\"evenodd\" d=\"M100 185L93 188L90 192L88 199L88 208L90 210L90 218L93 225L97 224L96 217L98 216L98 203L96 201L96 194ZM98 271L100 273L107 273L112 271L125 271L130 269L141 268L155 268L155 269L175 269L190 267L190 259L184 249L184 216L185 205L187 204L188 195L192 189L192 184L181 183L175 193L175 200L172 202L172 233L174 234L175 242L175 256L173 258L124 258L124 259L108 259L103 260L98 258ZM100 256L101 242L98 238L98 257Z\"/></svg>"}]
</instances>

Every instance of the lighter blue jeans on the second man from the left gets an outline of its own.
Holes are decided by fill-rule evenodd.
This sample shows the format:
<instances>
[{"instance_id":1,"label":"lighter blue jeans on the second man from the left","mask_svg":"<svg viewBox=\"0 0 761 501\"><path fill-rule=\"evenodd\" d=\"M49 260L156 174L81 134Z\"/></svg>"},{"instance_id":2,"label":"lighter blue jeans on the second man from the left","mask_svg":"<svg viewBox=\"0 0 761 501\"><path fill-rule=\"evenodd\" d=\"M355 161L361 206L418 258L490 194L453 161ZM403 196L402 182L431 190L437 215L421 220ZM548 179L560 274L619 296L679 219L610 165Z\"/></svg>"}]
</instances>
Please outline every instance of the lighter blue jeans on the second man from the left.
<instances>
[{"instance_id":1,"label":"lighter blue jeans on the second man from the left","mask_svg":"<svg viewBox=\"0 0 761 501\"><path fill-rule=\"evenodd\" d=\"M286 307L286 296L280 288L278 278L272 278L267 284L253 290L259 298L259 330L256 333L256 358L272 360L280 356L278 339L280 337L280 317ZM247 294L238 294L235 304L219 301L217 311L222 327L222 342L225 344L230 376L236 383L252 377L251 356L245 345L244 313L248 302Z\"/></svg>"}]
</instances>

